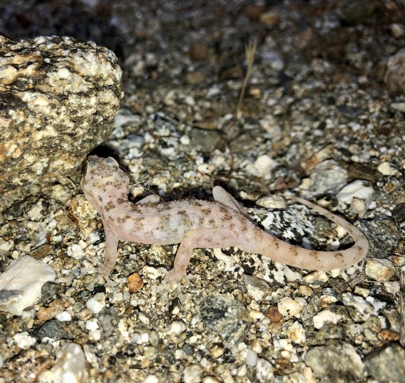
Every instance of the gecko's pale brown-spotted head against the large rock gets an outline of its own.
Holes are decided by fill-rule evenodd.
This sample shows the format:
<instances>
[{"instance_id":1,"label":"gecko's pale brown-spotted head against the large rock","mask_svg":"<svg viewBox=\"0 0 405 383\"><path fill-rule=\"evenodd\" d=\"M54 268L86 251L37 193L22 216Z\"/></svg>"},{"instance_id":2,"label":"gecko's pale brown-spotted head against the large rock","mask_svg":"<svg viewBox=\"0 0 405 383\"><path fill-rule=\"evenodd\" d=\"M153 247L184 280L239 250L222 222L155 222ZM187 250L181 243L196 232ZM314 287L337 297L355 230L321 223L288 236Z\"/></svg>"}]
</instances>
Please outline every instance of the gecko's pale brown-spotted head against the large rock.
<instances>
[{"instance_id":1,"label":"gecko's pale brown-spotted head against the large rock","mask_svg":"<svg viewBox=\"0 0 405 383\"><path fill-rule=\"evenodd\" d=\"M118 162L112 158L91 155L82 167L83 191L88 199L103 197L103 194L128 194L129 177L119 168ZM93 203L93 201L91 201Z\"/></svg>"}]
</instances>

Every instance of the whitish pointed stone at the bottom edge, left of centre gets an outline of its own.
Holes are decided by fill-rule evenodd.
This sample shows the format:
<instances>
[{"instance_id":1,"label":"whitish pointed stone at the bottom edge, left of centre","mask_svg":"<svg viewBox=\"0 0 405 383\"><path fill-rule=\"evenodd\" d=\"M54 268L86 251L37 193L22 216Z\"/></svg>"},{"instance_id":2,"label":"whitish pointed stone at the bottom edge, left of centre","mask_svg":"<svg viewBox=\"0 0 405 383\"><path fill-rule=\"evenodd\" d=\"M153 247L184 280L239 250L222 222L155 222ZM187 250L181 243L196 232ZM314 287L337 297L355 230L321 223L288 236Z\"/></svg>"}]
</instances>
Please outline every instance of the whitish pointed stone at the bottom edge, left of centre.
<instances>
[{"instance_id":1,"label":"whitish pointed stone at the bottom edge, left of centre","mask_svg":"<svg viewBox=\"0 0 405 383\"><path fill-rule=\"evenodd\" d=\"M50 370L43 371L39 382L71 382L88 381L86 357L82 348L75 343L66 343L56 355L56 361Z\"/></svg>"}]
</instances>

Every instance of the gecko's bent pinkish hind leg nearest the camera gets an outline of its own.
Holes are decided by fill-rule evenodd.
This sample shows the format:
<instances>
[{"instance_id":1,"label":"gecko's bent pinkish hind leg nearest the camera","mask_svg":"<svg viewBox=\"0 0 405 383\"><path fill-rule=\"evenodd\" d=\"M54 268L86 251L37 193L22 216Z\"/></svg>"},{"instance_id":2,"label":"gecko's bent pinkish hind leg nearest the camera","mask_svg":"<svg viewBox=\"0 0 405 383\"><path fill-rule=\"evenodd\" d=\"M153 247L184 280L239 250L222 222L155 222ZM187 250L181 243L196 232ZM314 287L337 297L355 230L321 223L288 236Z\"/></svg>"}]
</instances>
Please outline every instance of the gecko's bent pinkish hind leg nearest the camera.
<instances>
[{"instance_id":1,"label":"gecko's bent pinkish hind leg nearest the camera","mask_svg":"<svg viewBox=\"0 0 405 383\"><path fill-rule=\"evenodd\" d=\"M227 229L193 229L185 233L176 253L173 270L169 271L164 283L179 282L187 276L187 265L194 248L222 248L235 245L234 234Z\"/></svg>"}]
</instances>

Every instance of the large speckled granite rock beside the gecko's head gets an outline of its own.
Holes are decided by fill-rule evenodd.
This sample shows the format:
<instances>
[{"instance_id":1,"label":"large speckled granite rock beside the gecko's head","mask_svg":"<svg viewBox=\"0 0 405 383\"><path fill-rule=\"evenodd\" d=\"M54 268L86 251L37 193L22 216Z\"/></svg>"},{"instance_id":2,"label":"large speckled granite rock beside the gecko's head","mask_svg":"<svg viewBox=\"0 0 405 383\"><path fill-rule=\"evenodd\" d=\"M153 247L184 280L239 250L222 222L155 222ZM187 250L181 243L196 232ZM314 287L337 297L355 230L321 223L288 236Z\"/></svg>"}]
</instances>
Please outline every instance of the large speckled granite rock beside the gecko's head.
<instances>
[{"instance_id":1,"label":"large speckled granite rock beside the gecko's head","mask_svg":"<svg viewBox=\"0 0 405 383\"><path fill-rule=\"evenodd\" d=\"M121 74L114 53L93 42L0 36L3 204L66 176L109 135Z\"/></svg>"}]
</instances>

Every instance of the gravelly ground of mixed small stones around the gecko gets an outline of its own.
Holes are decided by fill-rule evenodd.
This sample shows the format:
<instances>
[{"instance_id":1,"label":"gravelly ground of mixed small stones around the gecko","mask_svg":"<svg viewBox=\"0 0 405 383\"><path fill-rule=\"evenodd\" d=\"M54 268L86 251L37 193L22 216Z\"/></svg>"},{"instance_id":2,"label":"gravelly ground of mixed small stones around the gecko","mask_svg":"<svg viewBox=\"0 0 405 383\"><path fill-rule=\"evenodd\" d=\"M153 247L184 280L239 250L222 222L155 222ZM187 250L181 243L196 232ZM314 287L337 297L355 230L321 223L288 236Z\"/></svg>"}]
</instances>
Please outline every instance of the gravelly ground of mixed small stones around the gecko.
<instances>
[{"instance_id":1,"label":"gravelly ground of mixed small stones around the gecko","mask_svg":"<svg viewBox=\"0 0 405 383\"><path fill-rule=\"evenodd\" d=\"M58 183L0 215L0 269L32 254L57 275L21 317L0 312L0 377L52 373L74 343L90 383L402 383L405 95L387 82L400 84L401 66L387 64L405 47L405 17L403 2L372 3L9 2L10 37L74 35L116 53L125 97L94 154L117 159L132 201L145 189L211 199L221 185L279 238L350 246L284 192L310 194L372 246L365 262L329 272L195 249L189 277L167 291L178 245L121 241L113 283L90 292L104 229L78 183Z\"/></svg>"}]
</instances>

